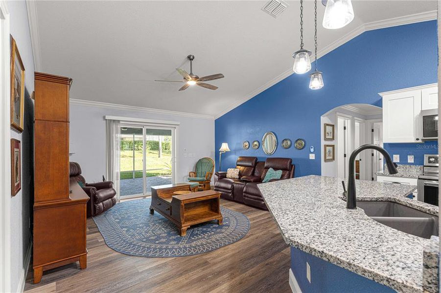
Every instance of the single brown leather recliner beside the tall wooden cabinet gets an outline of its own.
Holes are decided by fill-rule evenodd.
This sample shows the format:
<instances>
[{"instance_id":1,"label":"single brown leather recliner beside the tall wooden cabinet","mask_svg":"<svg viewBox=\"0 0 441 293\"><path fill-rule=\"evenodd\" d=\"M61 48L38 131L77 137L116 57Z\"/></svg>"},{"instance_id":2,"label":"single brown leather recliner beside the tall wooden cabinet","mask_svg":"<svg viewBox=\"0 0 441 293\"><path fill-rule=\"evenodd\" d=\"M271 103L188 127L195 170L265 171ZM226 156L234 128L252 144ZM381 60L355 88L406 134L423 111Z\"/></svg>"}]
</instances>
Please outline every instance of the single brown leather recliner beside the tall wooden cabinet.
<instances>
[{"instance_id":1,"label":"single brown leather recliner beside the tall wooden cabinet","mask_svg":"<svg viewBox=\"0 0 441 293\"><path fill-rule=\"evenodd\" d=\"M86 180L81 175L81 167L78 163L70 162L69 169L70 178L73 177L77 182L81 182L83 190L91 199L87 203L87 217L94 217L115 206L116 191L113 188L112 181L86 183Z\"/></svg>"}]
</instances>

